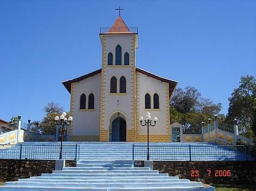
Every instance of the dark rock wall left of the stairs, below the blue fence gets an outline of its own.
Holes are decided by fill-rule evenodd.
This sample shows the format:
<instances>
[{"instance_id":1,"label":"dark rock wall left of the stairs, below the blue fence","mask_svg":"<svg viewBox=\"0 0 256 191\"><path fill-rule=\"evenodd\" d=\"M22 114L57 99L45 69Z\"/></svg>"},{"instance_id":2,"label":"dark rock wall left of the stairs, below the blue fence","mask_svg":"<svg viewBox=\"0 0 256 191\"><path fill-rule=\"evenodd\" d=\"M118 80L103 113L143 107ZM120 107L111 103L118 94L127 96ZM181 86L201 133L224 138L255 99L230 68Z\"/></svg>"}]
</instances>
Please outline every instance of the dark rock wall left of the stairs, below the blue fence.
<instances>
[{"instance_id":1,"label":"dark rock wall left of the stairs, below the blue fence","mask_svg":"<svg viewBox=\"0 0 256 191\"><path fill-rule=\"evenodd\" d=\"M76 166L75 160L66 160L65 166ZM0 159L0 182L16 181L19 178L52 173L55 160Z\"/></svg>"}]
</instances>

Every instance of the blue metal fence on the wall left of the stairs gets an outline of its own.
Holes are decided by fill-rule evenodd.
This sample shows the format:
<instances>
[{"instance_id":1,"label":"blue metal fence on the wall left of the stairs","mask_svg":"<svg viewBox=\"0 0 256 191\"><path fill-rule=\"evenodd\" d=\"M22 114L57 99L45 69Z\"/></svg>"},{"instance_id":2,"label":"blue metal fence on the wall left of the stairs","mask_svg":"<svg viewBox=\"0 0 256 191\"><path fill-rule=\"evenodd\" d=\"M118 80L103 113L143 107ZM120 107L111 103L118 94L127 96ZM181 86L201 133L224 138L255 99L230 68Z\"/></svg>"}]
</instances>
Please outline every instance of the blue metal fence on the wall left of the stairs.
<instances>
[{"instance_id":1,"label":"blue metal fence on the wall left of the stairs","mask_svg":"<svg viewBox=\"0 0 256 191\"><path fill-rule=\"evenodd\" d=\"M60 150L60 145L0 145L0 159L56 160ZM79 145L63 145L62 159L79 160L79 155Z\"/></svg>"}]
</instances>

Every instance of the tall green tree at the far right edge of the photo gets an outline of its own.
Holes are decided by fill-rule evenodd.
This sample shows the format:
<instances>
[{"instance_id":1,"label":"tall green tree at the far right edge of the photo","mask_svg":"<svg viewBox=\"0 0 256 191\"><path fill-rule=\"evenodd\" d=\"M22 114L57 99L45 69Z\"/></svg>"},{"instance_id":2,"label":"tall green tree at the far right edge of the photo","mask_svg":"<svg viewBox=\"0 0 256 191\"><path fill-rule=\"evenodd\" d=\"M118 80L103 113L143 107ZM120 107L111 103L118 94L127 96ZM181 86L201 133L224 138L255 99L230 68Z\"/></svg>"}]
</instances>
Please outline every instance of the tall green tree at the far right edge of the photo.
<instances>
[{"instance_id":1,"label":"tall green tree at the far right edge of the photo","mask_svg":"<svg viewBox=\"0 0 256 191\"><path fill-rule=\"evenodd\" d=\"M256 79L253 76L242 76L240 85L229 97L229 109L226 121L238 119L239 132L256 139Z\"/></svg>"}]
</instances>

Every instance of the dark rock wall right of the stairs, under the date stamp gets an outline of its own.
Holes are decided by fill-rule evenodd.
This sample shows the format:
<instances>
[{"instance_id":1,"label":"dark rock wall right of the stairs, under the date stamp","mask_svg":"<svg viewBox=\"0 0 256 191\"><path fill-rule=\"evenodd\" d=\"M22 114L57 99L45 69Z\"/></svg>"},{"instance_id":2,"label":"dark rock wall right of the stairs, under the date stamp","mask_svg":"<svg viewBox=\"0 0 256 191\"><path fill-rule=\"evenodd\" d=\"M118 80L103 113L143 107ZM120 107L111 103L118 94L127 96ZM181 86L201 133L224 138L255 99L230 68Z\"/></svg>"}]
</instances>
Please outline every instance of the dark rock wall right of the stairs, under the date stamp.
<instances>
[{"instance_id":1,"label":"dark rock wall right of the stairs, under the date stamp","mask_svg":"<svg viewBox=\"0 0 256 191\"><path fill-rule=\"evenodd\" d=\"M255 161L154 161L154 170L206 184L256 184Z\"/></svg>"}]
</instances>

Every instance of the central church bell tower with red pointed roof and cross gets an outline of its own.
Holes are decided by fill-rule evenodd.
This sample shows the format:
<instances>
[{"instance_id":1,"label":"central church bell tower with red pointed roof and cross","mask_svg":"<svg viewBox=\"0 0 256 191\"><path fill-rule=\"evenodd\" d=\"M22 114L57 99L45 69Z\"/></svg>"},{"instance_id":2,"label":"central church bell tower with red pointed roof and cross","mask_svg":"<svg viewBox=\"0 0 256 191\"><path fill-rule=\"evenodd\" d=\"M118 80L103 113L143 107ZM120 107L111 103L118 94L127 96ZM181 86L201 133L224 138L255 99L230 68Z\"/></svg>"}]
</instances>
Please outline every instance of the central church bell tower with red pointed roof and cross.
<instances>
[{"instance_id":1,"label":"central church bell tower with red pointed roof and cross","mask_svg":"<svg viewBox=\"0 0 256 191\"><path fill-rule=\"evenodd\" d=\"M126 121L126 141L135 141L135 52L138 28L120 16L111 27L100 28L102 45L100 141L111 140L117 114Z\"/></svg>"}]
</instances>

